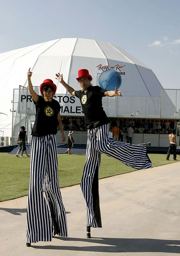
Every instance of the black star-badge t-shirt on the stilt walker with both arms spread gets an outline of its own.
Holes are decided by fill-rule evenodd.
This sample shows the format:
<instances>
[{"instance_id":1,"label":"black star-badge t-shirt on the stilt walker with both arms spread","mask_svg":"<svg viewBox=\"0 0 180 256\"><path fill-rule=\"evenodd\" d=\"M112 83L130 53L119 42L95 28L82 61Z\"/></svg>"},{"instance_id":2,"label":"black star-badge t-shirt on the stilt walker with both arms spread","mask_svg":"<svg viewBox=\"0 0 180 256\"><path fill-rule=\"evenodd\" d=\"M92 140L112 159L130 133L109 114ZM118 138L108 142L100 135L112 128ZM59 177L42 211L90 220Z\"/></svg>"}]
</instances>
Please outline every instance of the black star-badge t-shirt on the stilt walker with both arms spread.
<instances>
[{"instance_id":1,"label":"black star-badge t-shirt on the stilt walker with both arms spread","mask_svg":"<svg viewBox=\"0 0 180 256\"><path fill-rule=\"evenodd\" d=\"M107 90L99 86L88 87L86 93L75 91L75 96L81 101L82 110L84 112L85 126L101 121L104 124L109 123L105 111L102 107L102 97Z\"/></svg>"}]
</instances>

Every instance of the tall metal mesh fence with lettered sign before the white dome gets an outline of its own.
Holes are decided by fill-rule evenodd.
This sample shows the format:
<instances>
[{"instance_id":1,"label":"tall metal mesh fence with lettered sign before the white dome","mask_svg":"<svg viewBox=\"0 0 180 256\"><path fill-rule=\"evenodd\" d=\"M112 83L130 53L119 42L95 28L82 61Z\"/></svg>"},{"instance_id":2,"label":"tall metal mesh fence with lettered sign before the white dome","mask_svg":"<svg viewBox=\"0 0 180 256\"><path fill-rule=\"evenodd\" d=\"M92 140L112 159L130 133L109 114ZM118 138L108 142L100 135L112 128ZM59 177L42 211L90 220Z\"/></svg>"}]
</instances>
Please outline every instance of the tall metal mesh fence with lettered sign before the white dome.
<instances>
[{"instance_id":1,"label":"tall metal mesh fence with lettered sign before the white dome","mask_svg":"<svg viewBox=\"0 0 180 256\"><path fill-rule=\"evenodd\" d=\"M40 95L39 87L35 91ZM69 94L55 94L61 106L61 116L83 116L80 101ZM162 89L160 97L123 96L103 97L103 108L108 117L179 119L180 90ZM96 102L95 102L96 104ZM29 120L35 119L35 105L28 89L20 86L14 89L12 112L12 137L17 136L20 126L28 129Z\"/></svg>"}]
</instances>

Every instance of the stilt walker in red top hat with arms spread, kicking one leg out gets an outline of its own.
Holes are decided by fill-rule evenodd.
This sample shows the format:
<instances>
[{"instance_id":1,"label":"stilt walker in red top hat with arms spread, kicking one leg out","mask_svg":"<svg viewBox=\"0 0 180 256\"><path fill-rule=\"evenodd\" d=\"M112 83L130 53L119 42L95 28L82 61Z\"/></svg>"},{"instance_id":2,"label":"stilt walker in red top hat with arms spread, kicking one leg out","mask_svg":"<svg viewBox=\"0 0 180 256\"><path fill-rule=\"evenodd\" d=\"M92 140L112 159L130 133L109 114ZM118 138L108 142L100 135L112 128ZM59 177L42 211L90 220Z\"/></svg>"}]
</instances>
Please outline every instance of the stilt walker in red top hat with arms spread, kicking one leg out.
<instances>
[{"instance_id":1,"label":"stilt walker in red top hat with arms spread, kicking one leg out","mask_svg":"<svg viewBox=\"0 0 180 256\"><path fill-rule=\"evenodd\" d=\"M151 160L146 154L146 144L129 144L109 140L109 119L102 107L102 97L121 96L121 91L106 91L99 86L92 86L92 76L87 69L80 69L76 78L81 90L75 91L66 84L62 75L56 74L56 79L73 96L81 101L84 112L85 126L88 129L86 163L82 175L81 188L87 208L87 237L90 238L90 227L101 228L99 207L98 171L101 153L111 156L123 164L136 169L152 168ZM122 97L122 96L121 96Z\"/></svg>"}]
</instances>

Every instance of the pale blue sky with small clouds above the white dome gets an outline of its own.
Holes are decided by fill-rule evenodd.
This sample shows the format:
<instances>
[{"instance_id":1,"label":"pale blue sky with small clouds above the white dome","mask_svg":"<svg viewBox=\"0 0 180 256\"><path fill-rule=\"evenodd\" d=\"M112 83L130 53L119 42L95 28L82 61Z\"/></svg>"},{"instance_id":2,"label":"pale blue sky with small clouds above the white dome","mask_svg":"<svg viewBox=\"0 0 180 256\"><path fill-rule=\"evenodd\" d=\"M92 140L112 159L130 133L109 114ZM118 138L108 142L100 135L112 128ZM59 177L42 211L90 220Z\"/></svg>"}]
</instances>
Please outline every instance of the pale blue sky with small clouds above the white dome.
<instances>
[{"instance_id":1,"label":"pale blue sky with small clouds above the white dome","mask_svg":"<svg viewBox=\"0 0 180 256\"><path fill-rule=\"evenodd\" d=\"M1 1L0 52L58 38L115 44L180 89L179 0Z\"/></svg>"}]
</instances>

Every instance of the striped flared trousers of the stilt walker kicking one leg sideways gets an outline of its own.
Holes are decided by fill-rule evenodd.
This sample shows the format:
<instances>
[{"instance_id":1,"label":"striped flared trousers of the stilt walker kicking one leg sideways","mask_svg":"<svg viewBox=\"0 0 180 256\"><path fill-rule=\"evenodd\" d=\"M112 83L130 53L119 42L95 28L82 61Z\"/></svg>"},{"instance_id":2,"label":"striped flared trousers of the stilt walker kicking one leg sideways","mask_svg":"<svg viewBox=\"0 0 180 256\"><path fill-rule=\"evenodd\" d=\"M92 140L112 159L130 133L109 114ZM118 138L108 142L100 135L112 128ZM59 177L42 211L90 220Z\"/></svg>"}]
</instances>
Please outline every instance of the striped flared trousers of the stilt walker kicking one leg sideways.
<instances>
[{"instance_id":1,"label":"striped flared trousers of the stilt walker kicking one leg sideways","mask_svg":"<svg viewBox=\"0 0 180 256\"><path fill-rule=\"evenodd\" d=\"M86 164L81 188L86 201L87 226L101 228L99 207L98 171L101 153L136 169L152 168L145 144L129 144L108 138L109 124L88 130Z\"/></svg>"}]
</instances>

